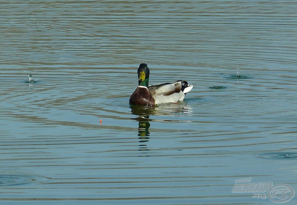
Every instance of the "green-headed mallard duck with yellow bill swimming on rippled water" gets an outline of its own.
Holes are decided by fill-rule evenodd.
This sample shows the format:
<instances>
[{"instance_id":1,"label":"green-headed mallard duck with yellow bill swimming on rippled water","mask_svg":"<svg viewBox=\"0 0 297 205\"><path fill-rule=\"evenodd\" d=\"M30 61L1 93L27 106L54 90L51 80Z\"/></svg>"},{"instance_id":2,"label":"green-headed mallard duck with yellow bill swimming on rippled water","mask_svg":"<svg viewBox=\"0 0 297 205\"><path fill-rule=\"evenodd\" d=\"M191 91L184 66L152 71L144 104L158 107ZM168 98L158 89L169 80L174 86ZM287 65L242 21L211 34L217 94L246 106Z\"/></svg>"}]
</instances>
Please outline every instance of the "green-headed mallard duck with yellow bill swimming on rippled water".
<instances>
[{"instance_id":1,"label":"green-headed mallard duck with yellow bill swimming on rippled water","mask_svg":"<svg viewBox=\"0 0 297 205\"><path fill-rule=\"evenodd\" d=\"M129 103L132 105L176 103L177 101L182 101L185 94L193 88L193 85L188 84L188 82L184 80L149 86L149 68L145 63L139 65L137 73L138 87L129 99Z\"/></svg>"}]
</instances>

